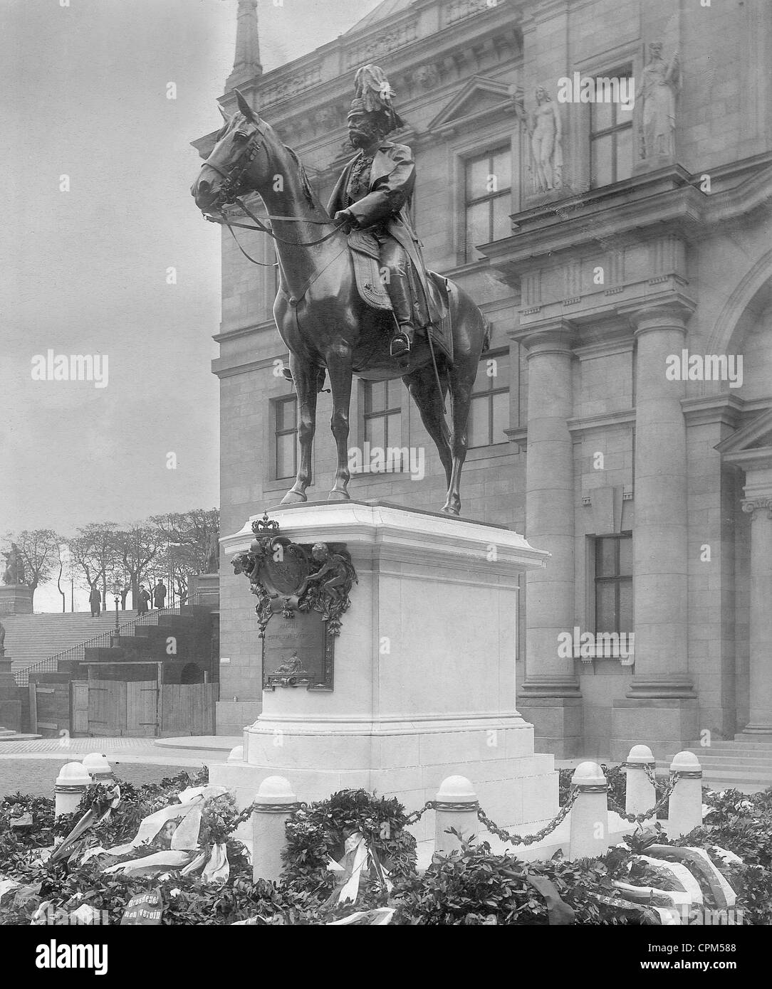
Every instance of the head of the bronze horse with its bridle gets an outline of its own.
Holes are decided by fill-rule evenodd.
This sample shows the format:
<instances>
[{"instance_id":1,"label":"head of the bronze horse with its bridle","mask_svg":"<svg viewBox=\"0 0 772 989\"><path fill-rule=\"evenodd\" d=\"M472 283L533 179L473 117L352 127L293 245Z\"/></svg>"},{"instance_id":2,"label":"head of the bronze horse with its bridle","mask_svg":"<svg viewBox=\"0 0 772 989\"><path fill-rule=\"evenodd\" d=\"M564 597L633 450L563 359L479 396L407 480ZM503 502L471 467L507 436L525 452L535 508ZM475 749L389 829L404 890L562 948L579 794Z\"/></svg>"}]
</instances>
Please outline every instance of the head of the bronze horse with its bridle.
<instances>
[{"instance_id":1,"label":"head of the bronze horse with its bridle","mask_svg":"<svg viewBox=\"0 0 772 989\"><path fill-rule=\"evenodd\" d=\"M203 213L216 213L247 191L247 173L257 153L264 147L264 138L269 130L238 89L236 96L239 111L233 117L229 117L220 107L225 124L190 189L196 206Z\"/></svg>"}]
</instances>

